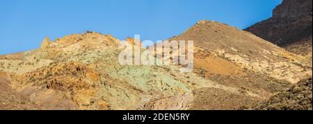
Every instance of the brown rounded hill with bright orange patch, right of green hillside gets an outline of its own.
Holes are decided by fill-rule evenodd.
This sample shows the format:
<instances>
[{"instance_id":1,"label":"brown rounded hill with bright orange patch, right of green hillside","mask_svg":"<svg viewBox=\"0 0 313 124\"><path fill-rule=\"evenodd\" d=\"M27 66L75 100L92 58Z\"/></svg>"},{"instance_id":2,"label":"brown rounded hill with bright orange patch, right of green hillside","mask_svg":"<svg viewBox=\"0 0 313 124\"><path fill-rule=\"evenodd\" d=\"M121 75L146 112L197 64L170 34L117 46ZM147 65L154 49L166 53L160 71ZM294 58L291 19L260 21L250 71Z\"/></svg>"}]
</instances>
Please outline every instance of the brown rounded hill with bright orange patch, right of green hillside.
<instances>
[{"instance_id":1,"label":"brown rounded hill with bright orange patch, right of green hillside","mask_svg":"<svg viewBox=\"0 0 313 124\"><path fill-rule=\"evenodd\" d=\"M194 40L194 72L213 82L240 88L243 94L255 93L267 98L271 93L289 87L286 82L294 84L312 75L312 65L305 57L219 22L200 21L169 40ZM225 92L210 88L198 89L191 109L218 109L225 106L215 101L223 98L221 94ZM253 98L237 101L241 96L235 94L224 96L231 96L234 99L230 101L236 101L237 104L253 101ZM211 104L204 105L206 103ZM228 106L234 109L232 107Z\"/></svg>"}]
</instances>

